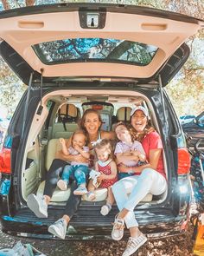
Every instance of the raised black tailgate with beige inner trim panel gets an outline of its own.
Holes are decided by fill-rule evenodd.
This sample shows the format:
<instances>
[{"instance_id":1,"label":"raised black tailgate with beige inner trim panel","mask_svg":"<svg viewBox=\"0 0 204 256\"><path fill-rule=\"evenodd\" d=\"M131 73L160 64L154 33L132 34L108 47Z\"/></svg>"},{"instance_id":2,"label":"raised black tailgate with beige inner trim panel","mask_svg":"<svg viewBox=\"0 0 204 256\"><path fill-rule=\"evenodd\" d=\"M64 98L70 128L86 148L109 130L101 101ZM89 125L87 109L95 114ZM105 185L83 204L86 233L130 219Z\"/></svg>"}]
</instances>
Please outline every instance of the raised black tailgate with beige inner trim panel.
<instances>
[{"instance_id":1,"label":"raised black tailgate with beige inner trim panel","mask_svg":"<svg viewBox=\"0 0 204 256\"><path fill-rule=\"evenodd\" d=\"M88 27L89 15L93 20L98 16L97 28ZM125 77L154 84L161 75L165 86L188 59L185 40L201 25L203 22L193 17L138 6L104 3L33 6L0 14L0 37L3 40L0 53L26 84L33 72L36 81L40 81L43 73L48 82L93 76L104 79ZM110 52L102 60L79 57L74 61L45 62L51 46L50 55L53 52L59 54L59 49L54 46L59 42L84 40L86 43L86 39L103 40L103 45L111 39L115 40L113 43L123 43L123 47L114 48L113 54ZM153 49L149 54L152 55L150 62L121 62L120 52L124 45L128 45L127 54L135 54L129 52L130 42L139 43L137 49L143 47L148 53ZM114 54L119 60L110 58Z\"/></svg>"}]
</instances>

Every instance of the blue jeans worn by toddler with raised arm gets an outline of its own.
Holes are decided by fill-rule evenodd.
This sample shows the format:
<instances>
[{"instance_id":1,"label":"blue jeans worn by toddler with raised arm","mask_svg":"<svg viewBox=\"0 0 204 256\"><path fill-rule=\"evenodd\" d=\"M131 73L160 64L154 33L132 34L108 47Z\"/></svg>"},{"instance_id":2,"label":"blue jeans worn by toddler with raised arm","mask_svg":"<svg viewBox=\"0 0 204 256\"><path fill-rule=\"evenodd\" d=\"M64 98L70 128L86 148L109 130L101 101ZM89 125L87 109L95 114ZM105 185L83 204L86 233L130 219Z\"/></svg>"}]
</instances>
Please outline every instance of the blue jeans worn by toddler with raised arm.
<instances>
[{"instance_id":1,"label":"blue jeans worn by toddler with raised arm","mask_svg":"<svg viewBox=\"0 0 204 256\"><path fill-rule=\"evenodd\" d=\"M67 181L67 183L69 183L69 178L72 176L76 179L78 185L85 184L87 174L88 167L85 165L67 165L64 167L61 180Z\"/></svg>"}]
</instances>

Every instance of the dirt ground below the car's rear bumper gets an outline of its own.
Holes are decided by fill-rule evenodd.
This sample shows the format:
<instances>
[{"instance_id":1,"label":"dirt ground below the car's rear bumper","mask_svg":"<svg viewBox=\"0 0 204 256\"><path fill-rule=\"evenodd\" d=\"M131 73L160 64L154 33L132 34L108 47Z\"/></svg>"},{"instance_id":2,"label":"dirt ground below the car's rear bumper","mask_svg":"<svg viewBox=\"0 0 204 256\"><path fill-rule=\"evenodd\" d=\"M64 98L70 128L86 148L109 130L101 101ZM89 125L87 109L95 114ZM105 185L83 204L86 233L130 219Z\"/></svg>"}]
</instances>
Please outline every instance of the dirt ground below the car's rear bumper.
<instances>
[{"instance_id":1,"label":"dirt ground below the car's rear bumper","mask_svg":"<svg viewBox=\"0 0 204 256\"><path fill-rule=\"evenodd\" d=\"M180 236L170 237L163 240L148 240L147 243L133 255L196 256L192 253L192 233L193 228L189 225L188 232ZM29 243L32 246L35 246L35 248L47 256L120 256L122 255L126 244L126 241L68 242L63 240L31 240L16 238L0 231L0 249L11 248L19 240L21 240L23 244Z\"/></svg>"}]
</instances>

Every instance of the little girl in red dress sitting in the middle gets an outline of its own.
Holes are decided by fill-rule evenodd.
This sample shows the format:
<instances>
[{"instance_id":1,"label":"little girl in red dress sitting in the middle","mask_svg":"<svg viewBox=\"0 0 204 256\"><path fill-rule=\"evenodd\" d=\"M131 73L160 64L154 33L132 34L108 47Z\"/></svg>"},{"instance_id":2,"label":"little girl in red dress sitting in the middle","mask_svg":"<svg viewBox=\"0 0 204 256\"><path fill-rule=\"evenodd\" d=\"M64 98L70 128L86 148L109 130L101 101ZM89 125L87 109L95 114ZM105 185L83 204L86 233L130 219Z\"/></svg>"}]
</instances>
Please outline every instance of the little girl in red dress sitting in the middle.
<instances>
[{"instance_id":1,"label":"little girl in red dress sitting in the middle","mask_svg":"<svg viewBox=\"0 0 204 256\"><path fill-rule=\"evenodd\" d=\"M117 179L117 166L114 161L114 154L112 148L112 142L109 140L100 140L94 143L93 148L97 155L98 161L95 164L95 170L100 172L97 179L99 187L106 187L108 189L108 196L105 206L101 207L100 213L106 215L107 211L110 212L113 203L113 195L111 191L112 185L118 181ZM90 200L95 199L93 193L96 187L92 184L92 180L88 184L88 198Z\"/></svg>"}]
</instances>

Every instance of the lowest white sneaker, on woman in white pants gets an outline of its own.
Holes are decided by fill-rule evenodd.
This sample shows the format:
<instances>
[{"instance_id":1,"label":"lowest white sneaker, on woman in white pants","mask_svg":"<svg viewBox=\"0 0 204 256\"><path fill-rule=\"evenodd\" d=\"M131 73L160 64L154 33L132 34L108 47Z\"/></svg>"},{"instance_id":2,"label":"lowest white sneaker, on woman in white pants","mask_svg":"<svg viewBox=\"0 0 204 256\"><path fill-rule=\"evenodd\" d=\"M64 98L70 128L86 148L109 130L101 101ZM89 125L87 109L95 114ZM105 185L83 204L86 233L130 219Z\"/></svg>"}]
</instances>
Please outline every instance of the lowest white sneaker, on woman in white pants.
<instances>
[{"instance_id":1,"label":"lowest white sneaker, on woman in white pants","mask_svg":"<svg viewBox=\"0 0 204 256\"><path fill-rule=\"evenodd\" d=\"M141 233L137 239L130 237L122 256L130 256L131 254L135 253L140 246L143 246L143 244L146 243L146 241L147 238L143 233Z\"/></svg>"}]
</instances>

